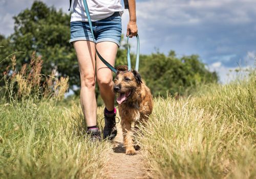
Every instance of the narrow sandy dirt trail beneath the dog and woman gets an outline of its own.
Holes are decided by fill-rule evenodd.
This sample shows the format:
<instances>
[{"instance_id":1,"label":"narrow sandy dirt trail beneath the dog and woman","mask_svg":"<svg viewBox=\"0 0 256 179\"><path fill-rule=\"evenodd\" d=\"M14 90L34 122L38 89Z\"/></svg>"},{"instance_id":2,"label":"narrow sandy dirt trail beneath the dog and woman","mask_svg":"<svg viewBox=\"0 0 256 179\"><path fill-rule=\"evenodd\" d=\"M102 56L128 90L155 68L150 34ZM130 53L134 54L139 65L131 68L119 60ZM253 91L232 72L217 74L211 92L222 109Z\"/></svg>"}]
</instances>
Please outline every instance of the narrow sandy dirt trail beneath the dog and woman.
<instances>
[{"instance_id":1,"label":"narrow sandy dirt trail beneath the dog and woman","mask_svg":"<svg viewBox=\"0 0 256 179\"><path fill-rule=\"evenodd\" d=\"M140 151L136 155L125 154L120 123L117 124L117 131L111 160L106 166L108 178L150 178Z\"/></svg>"}]
</instances>

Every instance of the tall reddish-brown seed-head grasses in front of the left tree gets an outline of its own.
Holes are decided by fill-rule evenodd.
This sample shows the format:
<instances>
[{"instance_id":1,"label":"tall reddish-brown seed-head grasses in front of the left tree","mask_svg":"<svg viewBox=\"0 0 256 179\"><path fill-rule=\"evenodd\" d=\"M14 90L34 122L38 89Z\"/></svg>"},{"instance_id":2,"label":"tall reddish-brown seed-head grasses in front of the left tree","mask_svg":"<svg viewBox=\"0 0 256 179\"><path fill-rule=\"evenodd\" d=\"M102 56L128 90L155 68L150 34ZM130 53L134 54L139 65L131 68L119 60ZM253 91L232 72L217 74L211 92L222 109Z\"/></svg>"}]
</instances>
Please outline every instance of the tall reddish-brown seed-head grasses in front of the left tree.
<instances>
[{"instance_id":1,"label":"tall reddish-brown seed-head grasses in front of the left tree","mask_svg":"<svg viewBox=\"0 0 256 179\"><path fill-rule=\"evenodd\" d=\"M43 98L60 101L67 92L69 78L41 74L42 59L33 52L30 63L25 63L22 69L16 70L16 57L11 58L12 65L4 72L5 87L0 88L1 94L7 99Z\"/></svg>"}]
</instances>

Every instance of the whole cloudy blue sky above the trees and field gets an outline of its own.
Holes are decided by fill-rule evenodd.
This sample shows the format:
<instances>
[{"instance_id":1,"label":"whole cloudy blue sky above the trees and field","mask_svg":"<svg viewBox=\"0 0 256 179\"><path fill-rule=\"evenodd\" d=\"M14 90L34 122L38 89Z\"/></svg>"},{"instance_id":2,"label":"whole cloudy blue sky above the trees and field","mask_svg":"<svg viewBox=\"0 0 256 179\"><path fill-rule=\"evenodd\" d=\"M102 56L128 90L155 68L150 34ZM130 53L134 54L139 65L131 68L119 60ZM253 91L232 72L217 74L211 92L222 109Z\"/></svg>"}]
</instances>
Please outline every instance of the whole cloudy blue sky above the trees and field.
<instances>
[{"instance_id":1,"label":"whole cloudy blue sky above the trees and field","mask_svg":"<svg viewBox=\"0 0 256 179\"><path fill-rule=\"evenodd\" d=\"M68 13L69 1L44 0ZM30 8L30 0L0 0L0 33L13 32L12 16ZM125 10L123 33L129 13ZM252 66L256 54L255 0L159 0L137 1L137 24L142 54L159 49L178 56L198 54L221 82L229 81L229 70ZM135 40L131 40L134 44Z\"/></svg>"}]
</instances>

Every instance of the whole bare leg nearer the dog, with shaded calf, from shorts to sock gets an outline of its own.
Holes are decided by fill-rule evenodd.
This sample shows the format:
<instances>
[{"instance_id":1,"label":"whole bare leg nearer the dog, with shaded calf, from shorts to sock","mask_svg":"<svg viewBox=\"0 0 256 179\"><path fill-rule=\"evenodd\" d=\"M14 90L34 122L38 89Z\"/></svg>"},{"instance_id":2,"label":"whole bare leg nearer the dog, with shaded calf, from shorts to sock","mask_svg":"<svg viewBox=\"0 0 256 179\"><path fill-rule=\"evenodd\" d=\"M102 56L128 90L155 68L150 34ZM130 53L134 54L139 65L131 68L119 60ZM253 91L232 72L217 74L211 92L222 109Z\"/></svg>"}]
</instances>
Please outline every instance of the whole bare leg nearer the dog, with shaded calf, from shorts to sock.
<instances>
[{"instance_id":1,"label":"whole bare leg nearer the dog, with shaded calf, from shorts to sock","mask_svg":"<svg viewBox=\"0 0 256 179\"><path fill-rule=\"evenodd\" d=\"M97 43L97 50L100 55L107 60L112 66L115 65L115 58L118 46L111 41ZM100 96L104 101L106 109L114 109L115 94L113 92L112 71L96 57L97 82L99 85Z\"/></svg>"}]
</instances>

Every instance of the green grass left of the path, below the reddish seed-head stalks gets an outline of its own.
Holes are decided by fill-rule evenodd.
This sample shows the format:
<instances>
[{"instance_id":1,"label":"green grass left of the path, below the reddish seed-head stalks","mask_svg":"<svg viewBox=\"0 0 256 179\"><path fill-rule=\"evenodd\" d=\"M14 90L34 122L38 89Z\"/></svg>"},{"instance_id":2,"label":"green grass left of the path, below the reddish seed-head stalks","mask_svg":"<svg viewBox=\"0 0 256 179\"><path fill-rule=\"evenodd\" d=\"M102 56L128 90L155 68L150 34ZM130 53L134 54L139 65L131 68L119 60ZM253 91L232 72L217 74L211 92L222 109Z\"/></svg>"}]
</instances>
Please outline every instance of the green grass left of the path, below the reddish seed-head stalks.
<instances>
[{"instance_id":1,"label":"green grass left of the path, below the reddish seed-head stalks","mask_svg":"<svg viewBox=\"0 0 256 179\"><path fill-rule=\"evenodd\" d=\"M110 143L84 137L80 107L54 102L0 105L0 178L99 178Z\"/></svg>"}]
</instances>

